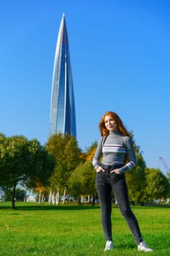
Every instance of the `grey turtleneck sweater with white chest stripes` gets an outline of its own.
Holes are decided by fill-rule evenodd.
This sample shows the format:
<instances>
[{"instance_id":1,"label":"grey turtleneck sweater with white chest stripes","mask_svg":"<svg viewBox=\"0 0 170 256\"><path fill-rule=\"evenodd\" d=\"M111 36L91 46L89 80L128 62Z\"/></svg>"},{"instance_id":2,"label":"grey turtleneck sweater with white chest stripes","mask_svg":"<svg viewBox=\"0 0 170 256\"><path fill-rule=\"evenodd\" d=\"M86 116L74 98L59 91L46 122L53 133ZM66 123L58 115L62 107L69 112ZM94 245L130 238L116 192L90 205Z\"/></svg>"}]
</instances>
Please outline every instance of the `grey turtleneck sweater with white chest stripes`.
<instances>
[{"instance_id":1,"label":"grey turtleneck sweater with white chest stripes","mask_svg":"<svg viewBox=\"0 0 170 256\"><path fill-rule=\"evenodd\" d=\"M111 131L104 141L104 145L102 145L103 138L104 137L101 137L99 139L96 153L93 157L93 166L95 169L100 166L100 158L102 154L102 164L123 165L123 167L119 168L120 174L123 174L126 170L130 170L136 165L136 154L130 137L124 136L118 131ZM128 154L129 162L124 165L125 154Z\"/></svg>"}]
</instances>

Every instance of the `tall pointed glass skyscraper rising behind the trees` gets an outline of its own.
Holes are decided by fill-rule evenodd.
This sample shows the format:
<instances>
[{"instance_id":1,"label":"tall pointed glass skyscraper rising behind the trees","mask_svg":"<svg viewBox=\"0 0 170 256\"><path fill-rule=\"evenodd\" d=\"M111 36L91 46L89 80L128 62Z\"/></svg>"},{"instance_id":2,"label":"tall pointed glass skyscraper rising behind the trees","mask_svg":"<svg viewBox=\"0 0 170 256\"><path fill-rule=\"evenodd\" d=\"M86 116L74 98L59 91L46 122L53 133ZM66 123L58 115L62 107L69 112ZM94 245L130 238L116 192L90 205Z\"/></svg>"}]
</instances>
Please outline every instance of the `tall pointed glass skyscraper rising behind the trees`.
<instances>
[{"instance_id":1,"label":"tall pointed glass skyscraper rising behind the trees","mask_svg":"<svg viewBox=\"0 0 170 256\"><path fill-rule=\"evenodd\" d=\"M62 133L76 138L72 67L65 15L61 19L55 50L50 108L50 135Z\"/></svg>"}]
</instances>

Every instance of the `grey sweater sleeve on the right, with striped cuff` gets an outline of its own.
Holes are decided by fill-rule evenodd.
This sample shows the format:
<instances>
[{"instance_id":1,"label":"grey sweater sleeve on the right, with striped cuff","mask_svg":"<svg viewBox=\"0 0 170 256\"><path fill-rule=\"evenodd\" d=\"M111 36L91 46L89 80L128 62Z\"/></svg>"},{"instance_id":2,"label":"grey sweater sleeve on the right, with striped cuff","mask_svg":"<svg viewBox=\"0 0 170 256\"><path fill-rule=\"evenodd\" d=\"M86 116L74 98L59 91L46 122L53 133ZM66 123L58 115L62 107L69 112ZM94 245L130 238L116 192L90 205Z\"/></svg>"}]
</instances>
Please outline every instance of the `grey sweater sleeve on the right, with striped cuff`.
<instances>
[{"instance_id":1,"label":"grey sweater sleeve on the right, with striped cuff","mask_svg":"<svg viewBox=\"0 0 170 256\"><path fill-rule=\"evenodd\" d=\"M131 168L136 166L136 163L137 163L133 141L128 136L125 137L125 148L128 154L128 162L119 169L120 174L125 173L126 170L130 170Z\"/></svg>"}]
</instances>

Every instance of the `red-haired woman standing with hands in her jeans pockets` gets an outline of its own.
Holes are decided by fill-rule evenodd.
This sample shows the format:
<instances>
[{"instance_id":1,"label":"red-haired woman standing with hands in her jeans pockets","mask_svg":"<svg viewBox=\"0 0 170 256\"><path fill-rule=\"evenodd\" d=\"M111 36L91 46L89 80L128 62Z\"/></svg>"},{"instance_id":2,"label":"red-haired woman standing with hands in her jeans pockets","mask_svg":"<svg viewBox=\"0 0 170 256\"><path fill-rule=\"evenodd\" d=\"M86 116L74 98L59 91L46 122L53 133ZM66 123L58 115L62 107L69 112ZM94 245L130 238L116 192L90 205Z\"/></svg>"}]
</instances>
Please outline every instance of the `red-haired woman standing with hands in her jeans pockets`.
<instances>
[{"instance_id":1,"label":"red-haired woman standing with hands in her jeans pockets","mask_svg":"<svg viewBox=\"0 0 170 256\"><path fill-rule=\"evenodd\" d=\"M125 218L140 251L152 252L142 240L138 222L131 211L124 173L136 165L136 155L131 138L115 112L107 112L99 123L101 138L98 141L93 166L96 169L96 188L101 204L101 222L106 238L104 251L113 249L111 223L111 192ZM101 155L103 159L100 162Z\"/></svg>"}]
</instances>

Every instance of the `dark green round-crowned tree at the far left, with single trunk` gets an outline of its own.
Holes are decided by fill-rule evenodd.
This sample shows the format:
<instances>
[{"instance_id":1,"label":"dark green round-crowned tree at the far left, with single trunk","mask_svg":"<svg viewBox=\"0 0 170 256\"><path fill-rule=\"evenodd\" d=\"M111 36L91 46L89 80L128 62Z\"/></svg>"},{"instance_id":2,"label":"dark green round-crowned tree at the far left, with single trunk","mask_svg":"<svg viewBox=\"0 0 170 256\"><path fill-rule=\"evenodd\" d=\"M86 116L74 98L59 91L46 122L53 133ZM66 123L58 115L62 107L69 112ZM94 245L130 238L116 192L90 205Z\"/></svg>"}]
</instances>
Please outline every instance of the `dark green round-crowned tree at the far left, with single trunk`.
<instances>
[{"instance_id":1,"label":"dark green round-crowned tree at the far left, with single trunk","mask_svg":"<svg viewBox=\"0 0 170 256\"><path fill-rule=\"evenodd\" d=\"M15 194L18 184L36 186L45 183L51 176L54 160L37 140L23 136L6 138L0 135L1 187L12 189L12 208L15 208Z\"/></svg>"}]
</instances>

